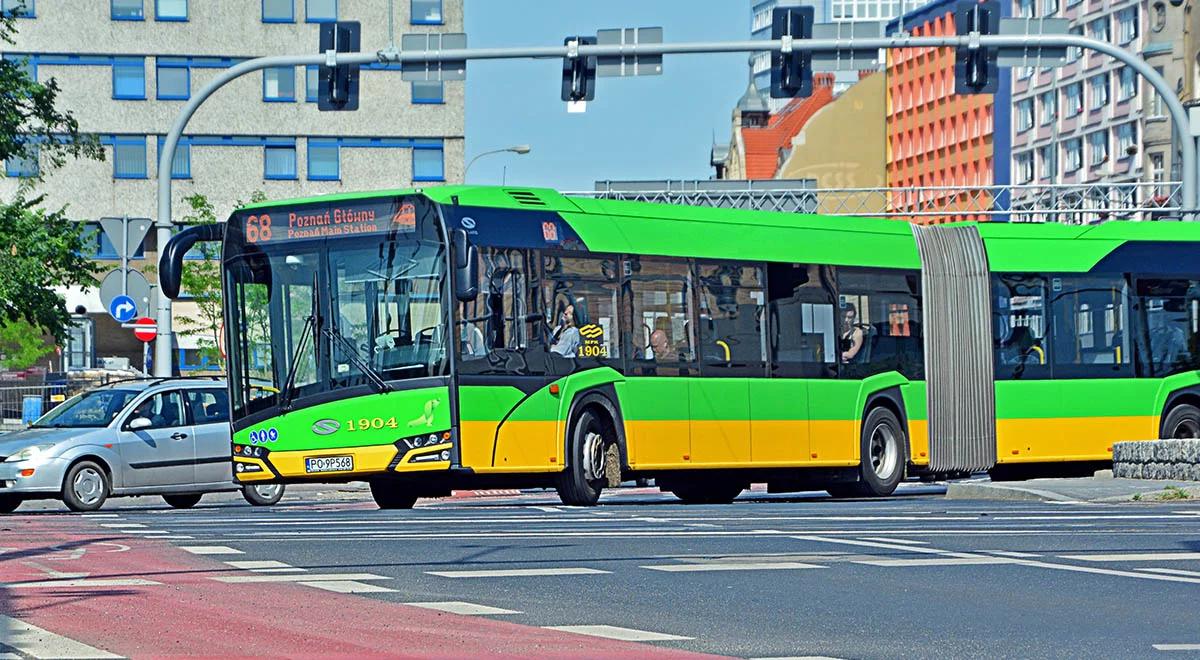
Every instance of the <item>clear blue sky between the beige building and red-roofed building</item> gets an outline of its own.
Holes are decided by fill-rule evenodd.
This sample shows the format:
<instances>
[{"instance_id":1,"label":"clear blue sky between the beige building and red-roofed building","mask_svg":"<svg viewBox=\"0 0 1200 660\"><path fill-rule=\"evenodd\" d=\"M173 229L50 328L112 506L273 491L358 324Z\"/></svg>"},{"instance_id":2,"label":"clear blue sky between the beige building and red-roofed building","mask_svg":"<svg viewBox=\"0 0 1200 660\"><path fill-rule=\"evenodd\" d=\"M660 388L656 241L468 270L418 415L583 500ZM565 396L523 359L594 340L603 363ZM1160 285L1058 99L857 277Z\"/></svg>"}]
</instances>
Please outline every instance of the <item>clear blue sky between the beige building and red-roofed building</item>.
<instances>
[{"instance_id":1,"label":"clear blue sky between the beige building and red-roofed building","mask_svg":"<svg viewBox=\"0 0 1200 660\"><path fill-rule=\"evenodd\" d=\"M466 0L470 47L553 46L598 29L662 26L662 38L750 36L749 0ZM583 114L559 98L562 60L474 61L467 66L467 160L485 156L469 182L592 190L601 179L708 179L713 132L730 139L730 113L745 91L748 55L667 55L662 76L600 78Z\"/></svg>"}]
</instances>

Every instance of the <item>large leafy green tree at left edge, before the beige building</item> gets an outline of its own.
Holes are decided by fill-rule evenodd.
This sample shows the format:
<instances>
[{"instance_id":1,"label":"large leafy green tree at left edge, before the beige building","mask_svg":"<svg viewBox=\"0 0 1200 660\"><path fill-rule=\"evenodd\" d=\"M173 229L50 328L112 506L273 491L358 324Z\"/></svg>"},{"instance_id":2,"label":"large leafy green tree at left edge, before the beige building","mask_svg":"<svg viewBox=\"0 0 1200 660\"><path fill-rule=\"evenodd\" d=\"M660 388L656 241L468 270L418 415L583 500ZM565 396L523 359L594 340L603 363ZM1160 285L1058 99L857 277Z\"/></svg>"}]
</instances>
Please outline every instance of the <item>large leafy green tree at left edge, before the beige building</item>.
<instances>
[{"instance_id":1,"label":"large leafy green tree at left edge, before the beige building","mask_svg":"<svg viewBox=\"0 0 1200 660\"><path fill-rule=\"evenodd\" d=\"M13 43L16 22L0 17L0 44ZM41 167L22 181L12 199L0 200L0 323L23 320L61 341L70 316L54 287L94 286L83 226L65 209L41 208L35 192L42 176L67 158L103 160L94 136L80 133L70 112L60 110L59 86L38 83L23 62L0 60L0 160L36 160Z\"/></svg>"}]
</instances>

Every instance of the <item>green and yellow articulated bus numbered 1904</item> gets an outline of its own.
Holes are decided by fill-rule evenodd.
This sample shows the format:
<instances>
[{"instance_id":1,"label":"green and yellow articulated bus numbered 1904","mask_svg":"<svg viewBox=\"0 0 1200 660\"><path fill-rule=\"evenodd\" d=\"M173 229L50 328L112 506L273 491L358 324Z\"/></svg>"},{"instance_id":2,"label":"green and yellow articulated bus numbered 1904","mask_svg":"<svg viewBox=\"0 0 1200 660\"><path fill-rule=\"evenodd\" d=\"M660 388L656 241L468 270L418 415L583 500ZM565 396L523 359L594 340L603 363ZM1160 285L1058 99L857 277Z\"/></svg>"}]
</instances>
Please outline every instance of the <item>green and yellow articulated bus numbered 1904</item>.
<instances>
[{"instance_id":1,"label":"green and yellow articulated bus numbered 1904","mask_svg":"<svg viewBox=\"0 0 1200 660\"><path fill-rule=\"evenodd\" d=\"M1200 434L1200 226L949 224L445 186L271 202L223 241L241 482L595 504L886 496Z\"/></svg>"}]
</instances>

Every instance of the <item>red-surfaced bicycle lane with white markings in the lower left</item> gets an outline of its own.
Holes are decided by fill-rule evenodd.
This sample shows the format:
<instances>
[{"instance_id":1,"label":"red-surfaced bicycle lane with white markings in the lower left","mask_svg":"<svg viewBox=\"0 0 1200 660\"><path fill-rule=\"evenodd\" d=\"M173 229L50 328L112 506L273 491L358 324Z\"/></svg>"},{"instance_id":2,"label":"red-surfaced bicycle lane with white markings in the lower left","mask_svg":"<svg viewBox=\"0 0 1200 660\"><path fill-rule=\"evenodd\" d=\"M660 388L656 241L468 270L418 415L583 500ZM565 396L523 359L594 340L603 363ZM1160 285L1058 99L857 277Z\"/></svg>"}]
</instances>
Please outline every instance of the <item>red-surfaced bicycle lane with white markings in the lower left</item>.
<instances>
[{"instance_id":1,"label":"red-surfaced bicycle lane with white markings in the lower left","mask_svg":"<svg viewBox=\"0 0 1200 660\"><path fill-rule=\"evenodd\" d=\"M0 550L0 614L131 658L706 658L288 582L220 582L245 572L74 516L5 516Z\"/></svg>"}]
</instances>

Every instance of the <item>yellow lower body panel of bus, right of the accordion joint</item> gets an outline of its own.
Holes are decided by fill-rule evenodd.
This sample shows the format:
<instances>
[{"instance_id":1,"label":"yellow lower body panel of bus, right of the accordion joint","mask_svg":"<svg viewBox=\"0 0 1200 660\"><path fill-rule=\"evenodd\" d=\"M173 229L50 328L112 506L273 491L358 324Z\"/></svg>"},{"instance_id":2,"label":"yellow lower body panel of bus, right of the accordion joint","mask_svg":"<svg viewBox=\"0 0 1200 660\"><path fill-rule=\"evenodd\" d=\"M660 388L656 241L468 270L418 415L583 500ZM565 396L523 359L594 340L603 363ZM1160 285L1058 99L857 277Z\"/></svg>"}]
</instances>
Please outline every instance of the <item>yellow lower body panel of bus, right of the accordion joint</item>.
<instances>
[{"instance_id":1,"label":"yellow lower body panel of bus, right of the accordion joint","mask_svg":"<svg viewBox=\"0 0 1200 660\"><path fill-rule=\"evenodd\" d=\"M1000 463L1109 461L1112 443L1158 436L1158 415L996 420Z\"/></svg>"}]
</instances>

